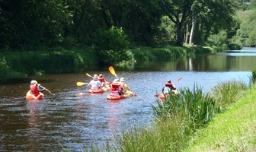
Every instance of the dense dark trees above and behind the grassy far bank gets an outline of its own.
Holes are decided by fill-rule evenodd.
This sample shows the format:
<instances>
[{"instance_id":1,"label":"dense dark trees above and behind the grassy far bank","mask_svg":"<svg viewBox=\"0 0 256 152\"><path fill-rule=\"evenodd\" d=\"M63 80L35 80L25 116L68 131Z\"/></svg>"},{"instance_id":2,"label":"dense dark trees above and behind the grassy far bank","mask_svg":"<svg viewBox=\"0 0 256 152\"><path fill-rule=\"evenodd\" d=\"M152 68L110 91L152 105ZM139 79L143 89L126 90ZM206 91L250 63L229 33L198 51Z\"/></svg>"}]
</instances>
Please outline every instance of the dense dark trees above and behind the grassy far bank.
<instances>
[{"instance_id":1,"label":"dense dark trees above and behind the grassy far bank","mask_svg":"<svg viewBox=\"0 0 256 152\"><path fill-rule=\"evenodd\" d=\"M102 49L123 37L129 46L255 46L255 4L256 0L1 0L0 49ZM244 12L242 17L238 11Z\"/></svg>"}]
</instances>

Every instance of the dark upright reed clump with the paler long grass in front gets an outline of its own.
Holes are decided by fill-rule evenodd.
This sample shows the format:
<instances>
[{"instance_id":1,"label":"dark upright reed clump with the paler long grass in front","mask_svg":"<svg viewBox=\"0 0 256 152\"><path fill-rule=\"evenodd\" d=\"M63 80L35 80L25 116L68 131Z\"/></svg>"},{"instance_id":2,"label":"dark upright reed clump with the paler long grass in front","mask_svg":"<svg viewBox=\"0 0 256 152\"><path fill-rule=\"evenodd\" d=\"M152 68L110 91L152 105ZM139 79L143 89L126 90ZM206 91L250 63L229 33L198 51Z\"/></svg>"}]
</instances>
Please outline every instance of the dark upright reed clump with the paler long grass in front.
<instances>
[{"instance_id":1,"label":"dark upright reed clump with the paler long grass in front","mask_svg":"<svg viewBox=\"0 0 256 152\"><path fill-rule=\"evenodd\" d=\"M178 96L169 96L158 106L152 106L155 124L123 132L117 140L121 151L181 151L190 136L209 122L216 111L212 97L202 88L182 89Z\"/></svg>"}]
</instances>

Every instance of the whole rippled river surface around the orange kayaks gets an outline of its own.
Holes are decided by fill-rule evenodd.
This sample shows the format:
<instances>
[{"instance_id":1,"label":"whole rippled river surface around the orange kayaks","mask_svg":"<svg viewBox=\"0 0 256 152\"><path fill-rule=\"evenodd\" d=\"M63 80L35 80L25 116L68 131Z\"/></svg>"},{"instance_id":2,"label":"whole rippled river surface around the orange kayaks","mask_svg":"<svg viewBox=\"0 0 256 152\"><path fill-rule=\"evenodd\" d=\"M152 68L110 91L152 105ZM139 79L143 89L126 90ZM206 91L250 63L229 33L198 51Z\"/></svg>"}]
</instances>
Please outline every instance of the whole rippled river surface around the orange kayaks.
<instances>
[{"instance_id":1,"label":"whole rippled river surface around the orange kayaks","mask_svg":"<svg viewBox=\"0 0 256 152\"><path fill-rule=\"evenodd\" d=\"M155 93L165 81L177 81L176 87L193 88L205 93L224 81L249 84L251 70L256 68L256 50L198 55L195 59L173 62L149 62L126 69L115 68L117 76L139 97L107 100L107 94L87 93L88 87L76 82L89 82L85 73L50 74L41 77L10 79L0 84L0 151L83 151L85 147L114 144L115 136L131 127L152 123ZM114 76L103 71L107 81ZM36 79L53 94L44 92L44 100L28 102L25 94L30 80Z\"/></svg>"}]
</instances>

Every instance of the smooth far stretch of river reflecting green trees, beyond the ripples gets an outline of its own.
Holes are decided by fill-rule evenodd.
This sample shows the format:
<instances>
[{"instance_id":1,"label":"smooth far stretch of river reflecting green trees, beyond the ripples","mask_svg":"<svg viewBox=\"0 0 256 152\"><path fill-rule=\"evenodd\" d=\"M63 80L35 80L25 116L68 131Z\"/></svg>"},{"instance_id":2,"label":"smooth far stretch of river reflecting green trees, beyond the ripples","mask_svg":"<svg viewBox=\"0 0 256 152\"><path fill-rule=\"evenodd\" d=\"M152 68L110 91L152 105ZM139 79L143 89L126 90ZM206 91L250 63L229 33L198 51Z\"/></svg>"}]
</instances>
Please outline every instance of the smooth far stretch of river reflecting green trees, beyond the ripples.
<instances>
[{"instance_id":1,"label":"smooth far stretch of river reflecting green trees, beyond the ripples","mask_svg":"<svg viewBox=\"0 0 256 152\"><path fill-rule=\"evenodd\" d=\"M146 62L133 65L135 71L251 71L256 68L256 53L218 53L197 55L182 61Z\"/></svg>"}]
</instances>

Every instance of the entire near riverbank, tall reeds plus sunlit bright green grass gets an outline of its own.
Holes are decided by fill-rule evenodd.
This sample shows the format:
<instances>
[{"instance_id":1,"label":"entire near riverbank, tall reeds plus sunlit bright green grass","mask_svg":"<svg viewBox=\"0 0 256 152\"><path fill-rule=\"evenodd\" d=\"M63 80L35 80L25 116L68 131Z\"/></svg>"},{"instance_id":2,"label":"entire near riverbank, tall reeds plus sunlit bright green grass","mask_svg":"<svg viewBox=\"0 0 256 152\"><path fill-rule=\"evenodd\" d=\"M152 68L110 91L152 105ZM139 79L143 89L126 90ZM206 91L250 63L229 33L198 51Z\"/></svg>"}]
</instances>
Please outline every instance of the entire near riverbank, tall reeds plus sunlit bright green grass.
<instances>
[{"instance_id":1,"label":"entire near riverbank, tall reeds plus sunlit bright green grass","mask_svg":"<svg viewBox=\"0 0 256 152\"><path fill-rule=\"evenodd\" d=\"M255 71L255 70L254 70ZM254 72L253 71L253 72ZM255 75L251 75L255 80ZM240 81L216 85L205 95L202 88L184 88L152 106L155 123L131 128L107 144L106 151L254 151L256 85ZM101 151L91 147L91 151Z\"/></svg>"}]
</instances>

